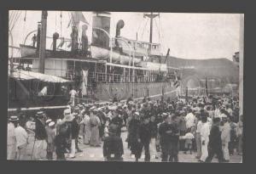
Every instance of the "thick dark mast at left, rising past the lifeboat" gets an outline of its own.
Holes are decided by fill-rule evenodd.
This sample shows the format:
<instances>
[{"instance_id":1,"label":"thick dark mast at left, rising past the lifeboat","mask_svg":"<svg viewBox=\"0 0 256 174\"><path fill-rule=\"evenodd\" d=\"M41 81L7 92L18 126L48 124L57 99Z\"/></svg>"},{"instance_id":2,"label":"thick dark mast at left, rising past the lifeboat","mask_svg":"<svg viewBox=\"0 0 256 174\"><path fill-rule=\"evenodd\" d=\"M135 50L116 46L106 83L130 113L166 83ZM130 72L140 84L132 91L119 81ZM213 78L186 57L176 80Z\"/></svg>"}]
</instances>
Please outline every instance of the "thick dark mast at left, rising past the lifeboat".
<instances>
[{"instance_id":1,"label":"thick dark mast at left, rising past the lifeboat","mask_svg":"<svg viewBox=\"0 0 256 174\"><path fill-rule=\"evenodd\" d=\"M44 59L45 59L45 48L46 48L46 28L47 28L47 11L42 11L41 19L41 36L40 36L40 48L39 48L39 72L44 74Z\"/></svg>"}]
</instances>

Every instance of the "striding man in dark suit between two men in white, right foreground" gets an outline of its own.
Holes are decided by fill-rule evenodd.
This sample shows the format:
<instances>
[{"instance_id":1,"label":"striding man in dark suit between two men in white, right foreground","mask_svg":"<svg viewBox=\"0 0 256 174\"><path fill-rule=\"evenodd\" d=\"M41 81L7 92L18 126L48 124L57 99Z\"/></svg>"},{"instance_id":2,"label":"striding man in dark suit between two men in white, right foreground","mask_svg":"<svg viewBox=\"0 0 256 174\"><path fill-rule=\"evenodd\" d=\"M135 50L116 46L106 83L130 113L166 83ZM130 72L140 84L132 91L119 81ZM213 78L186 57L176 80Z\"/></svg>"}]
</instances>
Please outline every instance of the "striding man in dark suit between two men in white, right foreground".
<instances>
[{"instance_id":1,"label":"striding man in dark suit between two men in white, right foreground","mask_svg":"<svg viewBox=\"0 0 256 174\"><path fill-rule=\"evenodd\" d=\"M222 141L221 132L219 131L220 118L216 117L213 119L212 129L209 135L208 143L208 157L206 162L211 162L215 154L217 154L218 162L223 162L223 152L222 152Z\"/></svg>"}]
</instances>

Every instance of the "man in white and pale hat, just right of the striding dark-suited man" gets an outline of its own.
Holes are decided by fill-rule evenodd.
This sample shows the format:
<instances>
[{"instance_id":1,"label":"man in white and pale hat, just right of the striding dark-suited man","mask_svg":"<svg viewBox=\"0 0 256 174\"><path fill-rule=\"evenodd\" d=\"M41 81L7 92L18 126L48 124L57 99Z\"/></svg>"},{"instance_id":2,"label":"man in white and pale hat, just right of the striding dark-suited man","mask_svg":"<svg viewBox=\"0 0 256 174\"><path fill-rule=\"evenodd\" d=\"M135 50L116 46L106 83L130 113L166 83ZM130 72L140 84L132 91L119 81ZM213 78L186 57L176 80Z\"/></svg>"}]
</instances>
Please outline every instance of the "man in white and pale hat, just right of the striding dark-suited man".
<instances>
[{"instance_id":1,"label":"man in white and pale hat, just right of the striding dark-suited man","mask_svg":"<svg viewBox=\"0 0 256 174\"><path fill-rule=\"evenodd\" d=\"M230 161L229 153L229 143L230 143L230 123L228 122L227 115L222 115L222 121L224 126L222 127L221 140L222 140L222 150L224 154L224 162Z\"/></svg>"}]
</instances>

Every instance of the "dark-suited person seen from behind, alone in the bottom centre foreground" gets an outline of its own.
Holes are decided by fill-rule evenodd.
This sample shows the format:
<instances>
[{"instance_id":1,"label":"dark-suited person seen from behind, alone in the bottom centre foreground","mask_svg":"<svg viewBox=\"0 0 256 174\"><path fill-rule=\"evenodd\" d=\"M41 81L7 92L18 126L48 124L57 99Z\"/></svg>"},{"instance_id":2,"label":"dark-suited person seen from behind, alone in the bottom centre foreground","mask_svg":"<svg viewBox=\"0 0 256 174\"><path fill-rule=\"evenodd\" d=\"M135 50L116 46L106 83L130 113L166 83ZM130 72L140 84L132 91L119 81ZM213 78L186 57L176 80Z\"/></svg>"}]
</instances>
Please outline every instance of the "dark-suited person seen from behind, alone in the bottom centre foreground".
<instances>
[{"instance_id":1,"label":"dark-suited person seen from behind, alone in the bottom centre foreground","mask_svg":"<svg viewBox=\"0 0 256 174\"><path fill-rule=\"evenodd\" d=\"M109 137L103 143L103 156L107 161L122 161L124 146L122 138L117 136L118 127L114 124L109 126Z\"/></svg>"}]
</instances>

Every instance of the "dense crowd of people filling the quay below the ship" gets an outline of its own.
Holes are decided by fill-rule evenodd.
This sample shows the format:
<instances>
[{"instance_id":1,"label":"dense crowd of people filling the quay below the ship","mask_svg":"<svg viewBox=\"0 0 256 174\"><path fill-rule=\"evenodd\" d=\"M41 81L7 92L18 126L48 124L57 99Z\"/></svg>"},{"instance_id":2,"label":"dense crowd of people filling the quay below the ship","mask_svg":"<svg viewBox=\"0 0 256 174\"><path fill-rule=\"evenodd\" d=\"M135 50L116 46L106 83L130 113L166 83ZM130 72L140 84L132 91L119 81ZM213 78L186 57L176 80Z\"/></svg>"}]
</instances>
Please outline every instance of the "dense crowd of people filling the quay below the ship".
<instances>
[{"instance_id":1,"label":"dense crowd of people filling the quay below the ship","mask_svg":"<svg viewBox=\"0 0 256 174\"><path fill-rule=\"evenodd\" d=\"M136 161L143 152L145 161L172 162L179 161L178 153L196 152L199 162L211 162L215 154L218 162L228 162L230 155L242 154L240 117L238 99L225 96L76 105L72 100L57 119L44 110L26 122L10 116L8 159L26 159L28 135L33 132L32 160L76 158L86 151L79 148L81 143L102 147L105 160L124 160L121 134L127 130L124 141Z\"/></svg>"}]
</instances>

